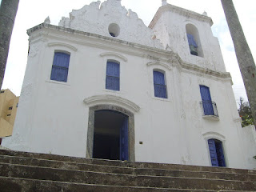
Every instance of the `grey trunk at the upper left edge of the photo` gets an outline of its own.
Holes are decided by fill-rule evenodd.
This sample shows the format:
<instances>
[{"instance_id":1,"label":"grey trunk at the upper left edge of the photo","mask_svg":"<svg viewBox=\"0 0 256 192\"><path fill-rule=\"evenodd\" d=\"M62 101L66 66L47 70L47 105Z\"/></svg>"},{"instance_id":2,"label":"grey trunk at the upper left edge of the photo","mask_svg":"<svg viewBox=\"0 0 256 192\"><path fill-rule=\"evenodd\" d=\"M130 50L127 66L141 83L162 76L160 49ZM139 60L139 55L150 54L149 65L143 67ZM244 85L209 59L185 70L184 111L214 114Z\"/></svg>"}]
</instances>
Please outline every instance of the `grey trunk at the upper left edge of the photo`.
<instances>
[{"instance_id":1,"label":"grey trunk at the upper left edge of the photo","mask_svg":"<svg viewBox=\"0 0 256 192\"><path fill-rule=\"evenodd\" d=\"M0 90L6 70L10 36L14 28L18 2L19 0L2 0L0 6Z\"/></svg>"}]
</instances>

